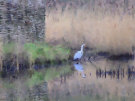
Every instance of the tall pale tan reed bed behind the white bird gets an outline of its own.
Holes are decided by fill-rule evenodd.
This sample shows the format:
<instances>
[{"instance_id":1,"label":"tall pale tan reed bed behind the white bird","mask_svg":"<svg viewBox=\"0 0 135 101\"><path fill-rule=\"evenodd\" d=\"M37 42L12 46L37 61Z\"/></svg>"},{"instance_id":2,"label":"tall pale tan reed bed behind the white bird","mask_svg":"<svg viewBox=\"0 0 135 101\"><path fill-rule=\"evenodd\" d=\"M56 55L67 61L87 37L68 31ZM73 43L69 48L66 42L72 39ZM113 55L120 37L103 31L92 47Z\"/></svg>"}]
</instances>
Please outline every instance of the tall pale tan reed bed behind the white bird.
<instances>
[{"instance_id":1,"label":"tall pale tan reed bed behind the white bird","mask_svg":"<svg viewBox=\"0 0 135 101\"><path fill-rule=\"evenodd\" d=\"M55 13L55 14L54 14ZM49 12L46 16L46 40L78 47L85 42L91 48L113 54L131 52L135 19L129 15L91 12L83 9Z\"/></svg>"}]
</instances>

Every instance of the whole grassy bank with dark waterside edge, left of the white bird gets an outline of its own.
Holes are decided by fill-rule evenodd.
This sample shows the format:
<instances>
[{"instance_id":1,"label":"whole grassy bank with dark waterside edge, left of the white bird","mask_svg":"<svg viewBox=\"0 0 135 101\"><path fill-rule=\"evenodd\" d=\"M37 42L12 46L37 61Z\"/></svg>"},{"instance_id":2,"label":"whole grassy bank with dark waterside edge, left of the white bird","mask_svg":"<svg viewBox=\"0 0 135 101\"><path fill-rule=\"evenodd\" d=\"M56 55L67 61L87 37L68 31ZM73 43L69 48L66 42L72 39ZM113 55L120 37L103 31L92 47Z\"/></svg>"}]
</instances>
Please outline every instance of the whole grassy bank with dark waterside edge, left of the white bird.
<instances>
[{"instance_id":1,"label":"whole grassy bank with dark waterside edge, left of the white bird","mask_svg":"<svg viewBox=\"0 0 135 101\"><path fill-rule=\"evenodd\" d=\"M70 49L35 42L20 45L14 42L1 45L1 69L24 69L42 65L59 64L69 59Z\"/></svg>"}]
</instances>

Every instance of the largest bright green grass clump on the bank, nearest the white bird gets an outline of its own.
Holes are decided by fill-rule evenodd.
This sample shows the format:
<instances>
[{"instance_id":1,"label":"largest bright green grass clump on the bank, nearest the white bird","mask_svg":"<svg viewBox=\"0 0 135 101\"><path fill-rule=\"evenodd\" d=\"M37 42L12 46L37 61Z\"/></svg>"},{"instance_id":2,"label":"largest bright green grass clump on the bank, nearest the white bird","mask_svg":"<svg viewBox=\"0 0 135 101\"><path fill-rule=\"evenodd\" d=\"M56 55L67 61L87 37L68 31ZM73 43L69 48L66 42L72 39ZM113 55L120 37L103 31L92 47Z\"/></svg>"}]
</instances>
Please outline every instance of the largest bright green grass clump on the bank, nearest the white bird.
<instances>
[{"instance_id":1,"label":"largest bright green grass clump on the bank, nearest the white bird","mask_svg":"<svg viewBox=\"0 0 135 101\"><path fill-rule=\"evenodd\" d=\"M27 43L24 45L30 61L34 62L37 58L42 61L67 60L70 50L61 46L50 46L46 43Z\"/></svg>"}]
</instances>

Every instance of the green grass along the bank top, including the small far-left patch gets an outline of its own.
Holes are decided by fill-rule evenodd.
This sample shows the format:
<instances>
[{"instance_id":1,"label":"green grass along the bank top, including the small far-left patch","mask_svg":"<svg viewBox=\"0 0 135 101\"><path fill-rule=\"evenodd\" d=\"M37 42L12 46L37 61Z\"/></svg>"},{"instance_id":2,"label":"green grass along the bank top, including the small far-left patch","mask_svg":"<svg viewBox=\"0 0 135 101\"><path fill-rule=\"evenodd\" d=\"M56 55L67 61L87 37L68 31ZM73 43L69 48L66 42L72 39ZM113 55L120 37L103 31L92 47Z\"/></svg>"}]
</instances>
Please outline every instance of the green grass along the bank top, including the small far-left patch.
<instances>
[{"instance_id":1,"label":"green grass along the bank top, including the small far-left patch","mask_svg":"<svg viewBox=\"0 0 135 101\"><path fill-rule=\"evenodd\" d=\"M14 42L5 43L2 46L3 56L7 54L14 54L17 56L17 44ZM69 59L70 49L57 45L52 46L47 43L35 42L26 43L22 46L21 52L25 53L25 56L29 58L29 62L33 64L36 59L39 59L41 63L65 61ZM20 52L20 51L19 51ZM21 54L20 52L20 54ZM24 56L24 55L23 55ZM26 57L25 57L26 58Z\"/></svg>"}]
</instances>

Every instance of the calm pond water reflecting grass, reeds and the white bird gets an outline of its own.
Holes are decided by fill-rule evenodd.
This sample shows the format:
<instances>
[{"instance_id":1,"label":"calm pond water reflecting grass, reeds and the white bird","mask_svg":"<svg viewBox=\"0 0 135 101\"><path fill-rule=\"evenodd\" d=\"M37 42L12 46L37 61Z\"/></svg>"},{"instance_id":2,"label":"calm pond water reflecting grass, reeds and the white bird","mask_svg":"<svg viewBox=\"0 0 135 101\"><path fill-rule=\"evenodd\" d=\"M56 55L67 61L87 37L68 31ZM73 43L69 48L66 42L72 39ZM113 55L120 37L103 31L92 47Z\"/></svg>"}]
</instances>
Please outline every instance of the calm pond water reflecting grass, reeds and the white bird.
<instances>
[{"instance_id":1,"label":"calm pond water reflecting grass, reeds and the white bird","mask_svg":"<svg viewBox=\"0 0 135 101\"><path fill-rule=\"evenodd\" d=\"M0 101L135 101L134 65L103 59L1 73Z\"/></svg>"}]
</instances>

